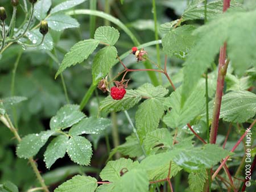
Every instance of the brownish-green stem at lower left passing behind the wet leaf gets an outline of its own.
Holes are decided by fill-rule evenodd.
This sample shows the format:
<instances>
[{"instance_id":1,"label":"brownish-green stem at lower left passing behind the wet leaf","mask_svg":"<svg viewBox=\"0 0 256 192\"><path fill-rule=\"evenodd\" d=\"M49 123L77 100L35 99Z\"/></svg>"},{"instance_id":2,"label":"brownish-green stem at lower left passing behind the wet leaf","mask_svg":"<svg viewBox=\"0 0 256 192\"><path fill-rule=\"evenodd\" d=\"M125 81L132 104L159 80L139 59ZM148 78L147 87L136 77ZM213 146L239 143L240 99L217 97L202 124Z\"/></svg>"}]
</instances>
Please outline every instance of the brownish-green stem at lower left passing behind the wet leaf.
<instances>
[{"instance_id":1,"label":"brownish-green stem at lower left passing behind the wet leaf","mask_svg":"<svg viewBox=\"0 0 256 192\"><path fill-rule=\"evenodd\" d=\"M15 138L19 141L22 140L19 136L19 133L17 132L16 128L13 126L13 123L11 123L11 120L9 118L9 116L7 114L5 114L5 116L2 116L4 119L2 120L3 123L5 123L6 127L10 128L11 132L14 133L14 136ZM32 166L32 169L34 170L35 174L36 174L36 178L38 178L38 181L40 182L41 186L43 187L43 190L45 192L49 192L47 186L46 186L46 183L44 183L44 180L36 166L36 163L35 161L33 160L33 158L29 158L28 161L30 162L31 166Z\"/></svg>"}]
</instances>

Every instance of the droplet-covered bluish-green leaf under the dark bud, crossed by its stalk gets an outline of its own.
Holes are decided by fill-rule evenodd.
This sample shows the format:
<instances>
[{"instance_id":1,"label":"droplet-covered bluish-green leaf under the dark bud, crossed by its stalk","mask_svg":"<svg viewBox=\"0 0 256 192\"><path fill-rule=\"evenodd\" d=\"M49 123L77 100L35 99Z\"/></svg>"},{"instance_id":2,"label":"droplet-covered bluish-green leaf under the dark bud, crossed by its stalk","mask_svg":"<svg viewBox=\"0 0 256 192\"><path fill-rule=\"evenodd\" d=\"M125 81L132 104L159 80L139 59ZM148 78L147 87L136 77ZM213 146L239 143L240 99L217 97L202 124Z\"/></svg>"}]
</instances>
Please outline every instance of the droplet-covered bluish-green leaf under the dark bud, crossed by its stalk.
<instances>
[{"instance_id":1,"label":"droplet-covered bluish-green leaf under the dark bud, crossed by its stalk","mask_svg":"<svg viewBox=\"0 0 256 192\"><path fill-rule=\"evenodd\" d=\"M39 30L32 30L27 32L28 39L32 42L32 44L39 44L42 41L43 35L39 32ZM46 34L44 37L44 41L41 45L38 46L38 49L45 49L51 51L53 48L53 40L51 34Z\"/></svg>"}]
</instances>

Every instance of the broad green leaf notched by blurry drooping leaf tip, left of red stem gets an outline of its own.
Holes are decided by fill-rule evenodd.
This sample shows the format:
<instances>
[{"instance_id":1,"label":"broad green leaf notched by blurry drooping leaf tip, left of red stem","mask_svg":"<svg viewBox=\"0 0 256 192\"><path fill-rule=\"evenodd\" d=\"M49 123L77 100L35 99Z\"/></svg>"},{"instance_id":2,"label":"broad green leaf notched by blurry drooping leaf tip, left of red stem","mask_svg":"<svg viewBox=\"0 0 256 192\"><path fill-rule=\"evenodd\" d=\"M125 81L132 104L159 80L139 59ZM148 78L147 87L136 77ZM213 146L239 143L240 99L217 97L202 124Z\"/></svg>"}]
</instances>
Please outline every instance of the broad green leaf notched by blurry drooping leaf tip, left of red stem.
<instances>
[{"instance_id":1,"label":"broad green leaf notched by blurry drooping leaf tip, left of red stem","mask_svg":"<svg viewBox=\"0 0 256 192\"><path fill-rule=\"evenodd\" d=\"M179 87L166 99L164 105L171 107L171 111L163 118L163 122L172 128L182 128L196 116L200 115L205 107L205 89L198 85L181 107L181 91Z\"/></svg>"}]
</instances>

